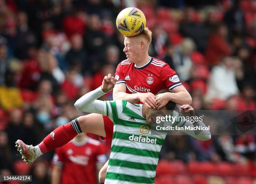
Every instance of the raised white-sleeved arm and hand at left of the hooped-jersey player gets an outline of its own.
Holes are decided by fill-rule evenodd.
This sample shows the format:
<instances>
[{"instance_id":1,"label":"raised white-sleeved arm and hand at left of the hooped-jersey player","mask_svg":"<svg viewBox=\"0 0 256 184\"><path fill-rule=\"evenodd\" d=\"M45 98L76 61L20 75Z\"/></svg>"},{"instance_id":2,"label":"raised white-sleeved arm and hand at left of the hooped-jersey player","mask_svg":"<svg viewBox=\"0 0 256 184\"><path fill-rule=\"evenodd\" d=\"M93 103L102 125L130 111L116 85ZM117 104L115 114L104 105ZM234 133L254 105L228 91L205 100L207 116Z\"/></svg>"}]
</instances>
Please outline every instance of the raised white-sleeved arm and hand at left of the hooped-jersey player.
<instances>
[{"instance_id":1,"label":"raised white-sleeved arm and hand at left of the hooped-jersey player","mask_svg":"<svg viewBox=\"0 0 256 184\"><path fill-rule=\"evenodd\" d=\"M77 108L77 110L82 112L93 112L106 115L107 110L105 102L96 99L112 90L115 86L115 82L115 77L108 74L108 76L104 77L100 87L83 95L75 102L74 106Z\"/></svg>"}]
</instances>

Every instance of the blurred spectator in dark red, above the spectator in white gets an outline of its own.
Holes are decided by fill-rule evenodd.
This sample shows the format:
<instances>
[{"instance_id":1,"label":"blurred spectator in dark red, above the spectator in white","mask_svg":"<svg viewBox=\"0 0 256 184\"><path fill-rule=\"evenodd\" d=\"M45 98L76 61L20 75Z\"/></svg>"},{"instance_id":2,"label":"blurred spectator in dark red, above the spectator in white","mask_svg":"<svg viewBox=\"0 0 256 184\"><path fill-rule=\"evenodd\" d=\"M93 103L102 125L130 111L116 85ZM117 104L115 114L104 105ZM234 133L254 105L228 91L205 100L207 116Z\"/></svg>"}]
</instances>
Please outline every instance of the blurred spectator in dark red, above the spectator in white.
<instances>
[{"instance_id":1,"label":"blurred spectator in dark red, above the spectator in white","mask_svg":"<svg viewBox=\"0 0 256 184\"><path fill-rule=\"evenodd\" d=\"M229 56L231 54L228 42L226 41L227 34L227 27L221 24L215 28L214 33L210 36L205 51L208 65L218 64L223 56Z\"/></svg>"}]
</instances>

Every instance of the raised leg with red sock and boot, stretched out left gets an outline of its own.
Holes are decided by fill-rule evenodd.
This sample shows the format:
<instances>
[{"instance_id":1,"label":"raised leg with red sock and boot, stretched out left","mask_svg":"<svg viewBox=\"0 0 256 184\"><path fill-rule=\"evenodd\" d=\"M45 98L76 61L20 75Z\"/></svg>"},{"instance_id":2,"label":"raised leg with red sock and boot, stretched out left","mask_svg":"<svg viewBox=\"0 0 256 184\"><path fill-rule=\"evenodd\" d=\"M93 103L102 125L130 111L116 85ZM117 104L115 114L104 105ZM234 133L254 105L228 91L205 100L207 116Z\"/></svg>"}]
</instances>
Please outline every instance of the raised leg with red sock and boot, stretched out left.
<instances>
[{"instance_id":1,"label":"raised leg with red sock and boot, stretched out left","mask_svg":"<svg viewBox=\"0 0 256 184\"><path fill-rule=\"evenodd\" d=\"M17 150L22 154L22 158L31 164L41 154L59 148L71 141L78 133L94 133L105 136L104 121L100 114L90 114L72 120L66 125L62 125L47 135L37 146L28 146L23 141L16 141Z\"/></svg>"}]
</instances>

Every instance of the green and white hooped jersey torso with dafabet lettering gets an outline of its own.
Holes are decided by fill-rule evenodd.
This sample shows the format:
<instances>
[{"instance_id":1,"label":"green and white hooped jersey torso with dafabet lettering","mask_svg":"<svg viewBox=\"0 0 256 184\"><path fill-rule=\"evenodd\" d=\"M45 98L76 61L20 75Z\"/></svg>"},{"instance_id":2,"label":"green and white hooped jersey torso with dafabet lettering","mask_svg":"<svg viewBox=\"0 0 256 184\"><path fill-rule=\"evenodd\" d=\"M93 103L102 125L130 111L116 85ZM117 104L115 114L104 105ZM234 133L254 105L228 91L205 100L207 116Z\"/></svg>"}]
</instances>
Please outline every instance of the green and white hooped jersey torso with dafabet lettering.
<instances>
[{"instance_id":1,"label":"green and white hooped jersey torso with dafabet lettering","mask_svg":"<svg viewBox=\"0 0 256 184\"><path fill-rule=\"evenodd\" d=\"M118 100L106 107L114 132L105 184L154 184L166 134L151 135L142 105Z\"/></svg>"}]
</instances>

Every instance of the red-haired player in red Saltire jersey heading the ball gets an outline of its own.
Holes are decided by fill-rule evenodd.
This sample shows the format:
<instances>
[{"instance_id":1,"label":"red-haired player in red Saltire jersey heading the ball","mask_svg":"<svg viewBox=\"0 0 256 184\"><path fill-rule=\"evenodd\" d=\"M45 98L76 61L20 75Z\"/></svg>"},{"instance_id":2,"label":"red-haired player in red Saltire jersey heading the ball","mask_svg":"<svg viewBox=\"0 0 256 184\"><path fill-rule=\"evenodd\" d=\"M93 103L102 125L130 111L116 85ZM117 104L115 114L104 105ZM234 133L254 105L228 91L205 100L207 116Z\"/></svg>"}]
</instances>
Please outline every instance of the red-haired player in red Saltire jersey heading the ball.
<instances>
[{"instance_id":1,"label":"red-haired player in red Saltire jersey heading the ball","mask_svg":"<svg viewBox=\"0 0 256 184\"><path fill-rule=\"evenodd\" d=\"M180 83L176 72L164 61L148 55L150 43L151 31L148 28L144 28L139 35L125 37L123 51L127 60L122 61L116 70L115 79L118 79L118 82L113 89L113 99L127 100L132 103L139 102L153 109L160 109L169 101L179 105L190 105L191 96ZM105 76L105 80L108 82L110 79ZM155 96L154 93L156 94L161 89L169 89L172 93ZM27 163L30 164L42 153L64 145L74 138L76 133L82 132L93 133L105 137L106 140L111 140L113 123L107 116L92 113L57 128L46 136L38 146L31 147L20 140L16 144L26 157ZM54 138L54 134L58 135L58 139ZM107 164L103 166L99 174L101 183L104 183L106 166Z\"/></svg>"}]
</instances>

